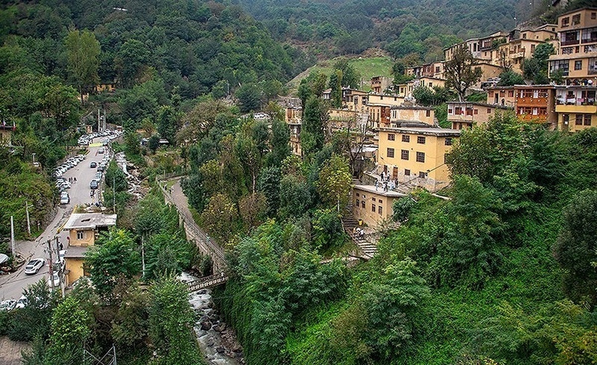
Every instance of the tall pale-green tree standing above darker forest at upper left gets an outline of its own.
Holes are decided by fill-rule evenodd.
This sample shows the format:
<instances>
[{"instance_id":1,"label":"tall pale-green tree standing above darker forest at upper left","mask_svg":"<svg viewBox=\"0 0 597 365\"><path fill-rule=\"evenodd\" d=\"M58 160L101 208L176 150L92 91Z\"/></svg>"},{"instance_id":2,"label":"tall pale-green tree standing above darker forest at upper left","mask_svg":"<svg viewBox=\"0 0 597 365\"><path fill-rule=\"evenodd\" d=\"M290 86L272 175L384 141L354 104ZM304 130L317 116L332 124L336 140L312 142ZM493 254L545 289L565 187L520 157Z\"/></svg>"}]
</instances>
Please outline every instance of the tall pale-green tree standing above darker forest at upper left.
<instances>
[{"instance_id":1,"label":"tall pale-green tree standing above darker forest at upper left","mask_svg":"<svg viewBox=\"0 0 597 365\"><path fill-rule=\"evenodd\" d=\"M99 81L100 42L89 30L70 30L66 36L66 55L70 77L81 94L83 104L84 92Z\"/></svg>"}]
</instances>

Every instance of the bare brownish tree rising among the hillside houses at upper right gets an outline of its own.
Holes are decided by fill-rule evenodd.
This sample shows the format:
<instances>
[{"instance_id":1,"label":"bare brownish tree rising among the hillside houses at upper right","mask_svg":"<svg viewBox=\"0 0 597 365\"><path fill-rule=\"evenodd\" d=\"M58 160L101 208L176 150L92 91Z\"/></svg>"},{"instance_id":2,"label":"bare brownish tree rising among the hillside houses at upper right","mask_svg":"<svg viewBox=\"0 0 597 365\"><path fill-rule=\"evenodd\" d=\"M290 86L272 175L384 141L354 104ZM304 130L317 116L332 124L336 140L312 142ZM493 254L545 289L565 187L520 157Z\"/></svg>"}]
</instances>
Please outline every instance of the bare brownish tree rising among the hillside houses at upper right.
<instances>
[{"instance_id":1,"label":"bare brownish tree rising among the hillside houses at upper right","mask_svg":"<svg viewBox=\"0 0 597 365\"><path fill-rule=\"evenodd\" d=\"M446 87L453 88L458 93L460 101L466 100L466 91L475 85L483 76L481 67L475 67L475 58L468 48L460 47L454 51L453 58L444 64Z\"/></svg>"}]
</instances>

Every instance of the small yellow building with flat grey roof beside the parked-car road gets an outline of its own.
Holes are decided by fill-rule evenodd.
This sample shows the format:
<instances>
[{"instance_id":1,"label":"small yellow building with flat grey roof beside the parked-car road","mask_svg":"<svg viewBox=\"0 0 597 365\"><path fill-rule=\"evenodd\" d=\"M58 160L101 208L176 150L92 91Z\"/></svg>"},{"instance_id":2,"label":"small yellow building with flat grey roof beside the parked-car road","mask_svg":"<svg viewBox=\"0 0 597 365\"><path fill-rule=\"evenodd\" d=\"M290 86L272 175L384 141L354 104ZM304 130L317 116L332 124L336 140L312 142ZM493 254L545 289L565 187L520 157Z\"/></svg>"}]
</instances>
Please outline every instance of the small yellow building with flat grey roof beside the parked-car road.
<instances>
[{"instance_id":1,"label":"small yellow building with flat grey roof beside the parked-car road","mask_svg":"<svg viewBox=\"0 0 597 365\"><path fill-rule=\"evenodd\" d=\"M64 260L66 263L66 285L71 285L82 276L87 276L84 265L85 252L96 242L100 231L116 225L116 214L73 213L64 224L63 230L69 231Z\"/></svg>"}]
</instances>

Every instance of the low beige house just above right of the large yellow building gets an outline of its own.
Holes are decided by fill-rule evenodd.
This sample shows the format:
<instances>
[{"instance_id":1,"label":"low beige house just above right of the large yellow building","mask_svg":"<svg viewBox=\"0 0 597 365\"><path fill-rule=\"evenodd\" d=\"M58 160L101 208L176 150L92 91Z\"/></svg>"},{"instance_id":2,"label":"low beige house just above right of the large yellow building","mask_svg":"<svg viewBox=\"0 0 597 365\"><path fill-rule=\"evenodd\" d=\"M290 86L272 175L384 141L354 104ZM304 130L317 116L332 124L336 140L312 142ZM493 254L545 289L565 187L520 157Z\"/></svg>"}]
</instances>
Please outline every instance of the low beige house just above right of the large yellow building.
<instances>
[{"instance_id":1,"label":"low beige house just above right of the large yellow building","mask_svg":"<svg viewBox=\"0 0 597 365\"><path fill-rule=\"evenodd\" d=\"M498 110L506 111L513 108L470 101L449 101L448 122L452 123L452 129L470 129L473 125L487 123Z\"/></svg>"}]
</instances>

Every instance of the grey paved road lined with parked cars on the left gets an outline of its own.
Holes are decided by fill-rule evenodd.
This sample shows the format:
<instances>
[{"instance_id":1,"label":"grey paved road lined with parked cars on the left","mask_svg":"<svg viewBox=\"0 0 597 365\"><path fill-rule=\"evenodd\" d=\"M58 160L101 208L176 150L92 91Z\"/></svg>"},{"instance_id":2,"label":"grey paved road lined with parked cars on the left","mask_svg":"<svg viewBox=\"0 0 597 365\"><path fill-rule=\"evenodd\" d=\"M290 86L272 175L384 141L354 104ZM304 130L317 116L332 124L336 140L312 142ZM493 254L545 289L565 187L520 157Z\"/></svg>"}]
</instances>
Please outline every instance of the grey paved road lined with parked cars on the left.
<instances>
[{"instance_id":1,"label":"grey paved road lined with parked cars on the left","mask_svg":"<svg viewBox=\"0 0 597 365\"><path fill-rule=\"evenodd\" d=\"M96 138L96 142L99 142L101 138ZM101 147L89 147L89 153L84 160L79 162L78 165L72 169L66 171L63 175L64 178L76 177L77 182L73 183L70 189L67 191L70 195L70 203L67 205L59 205L58 212L54 217L53 221L50 222L48 227L45 228L44 233L38 237L35 241L22 241L16 242L16 250L20 252L27 261L30 258L45 258L46 261L49 259L49 255L45 253L47 249L47 240L53 240L54 237L59 237L59 242L64 246L64 249L68 249L68 243L66 240L67 232L57 233L57 230L64 225L66 219L68 219L75 205L82 203L92 202L93 199L90 197L89 184L93 180L96 174L95 168L90 168L89 165L92 161L100 162L103 159L104 154L98 153ZM97 200L97 194L95 199ZM53 246L56 249L55 245ZM53 253L53 258L56 260L56 255ZM25 275L23 265L16 273L12 273L6 276L0 276L0 300L4 299L19 299L23 289L27 285L37 282L43 276L48 279L48 265L39 270L39 273L35 275Z\"/></svg>"}]
</instances>

